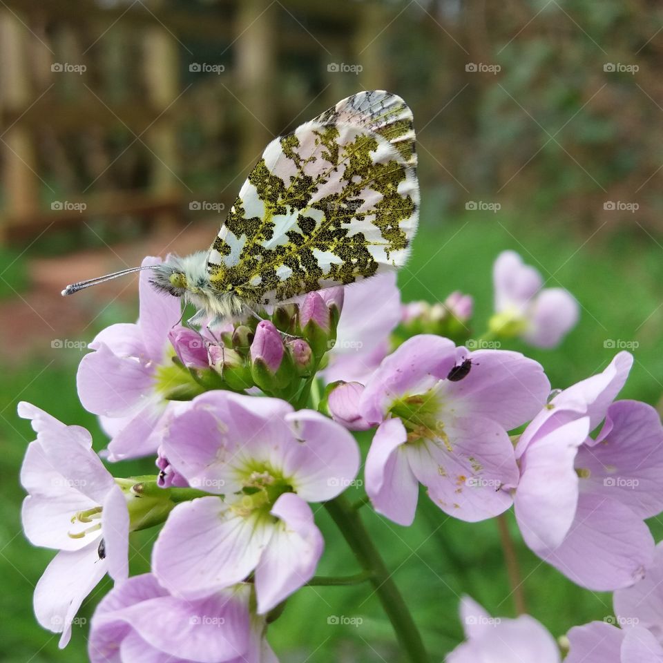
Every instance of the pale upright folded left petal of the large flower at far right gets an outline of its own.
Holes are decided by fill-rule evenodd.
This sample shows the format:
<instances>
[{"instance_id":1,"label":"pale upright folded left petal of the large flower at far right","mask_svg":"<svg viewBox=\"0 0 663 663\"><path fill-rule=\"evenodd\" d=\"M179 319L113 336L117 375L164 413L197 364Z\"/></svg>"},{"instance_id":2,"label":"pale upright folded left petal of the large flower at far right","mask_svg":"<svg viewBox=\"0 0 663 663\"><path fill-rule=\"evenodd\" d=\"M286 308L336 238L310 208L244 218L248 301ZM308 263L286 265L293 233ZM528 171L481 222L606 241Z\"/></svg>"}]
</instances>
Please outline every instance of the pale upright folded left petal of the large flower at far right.
<instances>
[{"instance_id":1,"label":"pale upright folded left petal of the large flower at far right","mask_svg":"<svg viewBox=\"0 0 663 663\"><path fill-rule=\"evenodd\" d=\"M589 418L570 421L528 446L521 459L515 514L526 544L538 555L557 548L568 534L578 503L577 449Z\"/></svg>"}]
</instances>

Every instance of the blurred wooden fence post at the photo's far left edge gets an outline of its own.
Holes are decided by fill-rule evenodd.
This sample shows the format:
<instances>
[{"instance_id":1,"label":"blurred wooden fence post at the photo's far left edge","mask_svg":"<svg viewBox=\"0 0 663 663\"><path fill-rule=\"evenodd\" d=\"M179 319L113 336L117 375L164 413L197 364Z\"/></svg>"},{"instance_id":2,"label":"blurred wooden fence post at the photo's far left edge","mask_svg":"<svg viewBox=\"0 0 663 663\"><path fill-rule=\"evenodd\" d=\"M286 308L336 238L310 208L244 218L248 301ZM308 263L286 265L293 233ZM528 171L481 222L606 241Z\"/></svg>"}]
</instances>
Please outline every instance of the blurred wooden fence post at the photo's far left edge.
<instances>
[{"instance_id":1,"label":"blurred wooden fence post at the photo's far left edge","mask_svg":"<svg viewBox=\"0 0 663 663\"><path fill-rule=\"evenodd\" d=\"M11 12L0 12L0 111L20 115L30 104L26 28ZM39 182L35 147L28 128L21 120L4 129L0 148L4 169L2 186L6 200L4 234L8 220L20 220L35 213L39 207Z\"/></svg>"}]
</instances>

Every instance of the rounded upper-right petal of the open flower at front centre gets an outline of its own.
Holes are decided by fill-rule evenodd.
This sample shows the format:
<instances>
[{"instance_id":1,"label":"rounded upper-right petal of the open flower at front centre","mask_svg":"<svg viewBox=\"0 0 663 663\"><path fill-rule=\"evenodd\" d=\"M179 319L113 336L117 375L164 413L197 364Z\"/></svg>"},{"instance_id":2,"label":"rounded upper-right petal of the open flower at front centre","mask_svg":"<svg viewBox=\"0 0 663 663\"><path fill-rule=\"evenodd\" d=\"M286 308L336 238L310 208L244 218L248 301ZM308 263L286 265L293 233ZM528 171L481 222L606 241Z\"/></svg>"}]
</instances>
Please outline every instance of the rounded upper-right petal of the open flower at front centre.
<instances>
[{"instance_id":1,"label":"rounded upper-right petal of the open flower at front centre","mask_svg":"<svg viewBox=\"0 0 663 663\"><path fill-rule=\"evenodd\" d=\"M345 428L312 410L286 414L294 439L282 460L295 492L308 502L332 499L354 481L361 457Z\"/></svg>"}]
</instances>

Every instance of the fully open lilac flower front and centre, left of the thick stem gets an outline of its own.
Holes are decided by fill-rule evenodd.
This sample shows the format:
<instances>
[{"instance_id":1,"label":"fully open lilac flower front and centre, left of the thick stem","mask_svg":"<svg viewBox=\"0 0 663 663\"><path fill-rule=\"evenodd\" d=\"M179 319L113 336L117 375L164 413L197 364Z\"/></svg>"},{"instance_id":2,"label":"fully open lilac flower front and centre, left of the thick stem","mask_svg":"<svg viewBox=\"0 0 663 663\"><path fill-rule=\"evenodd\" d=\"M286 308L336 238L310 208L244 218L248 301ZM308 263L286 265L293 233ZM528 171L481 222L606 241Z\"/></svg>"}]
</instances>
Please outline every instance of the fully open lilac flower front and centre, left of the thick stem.
<instances>
[{"instance_id":1,"label":"fully open lilac flower front and centre, left of the thick stem","mask_svg":"<svg viewBox=\"0 0 663 663\"><path fill-rule=\"evenodd\" d=\"M192 488L153 551L172 593L202 597L255 574L263 614L314 575L323 539L307 502L336 497L359 466L356 442L327 417L276 398L208 392L175 417L163 445ZM219 495L220 497L216 497Z\"/></svg>"}]
</instances>

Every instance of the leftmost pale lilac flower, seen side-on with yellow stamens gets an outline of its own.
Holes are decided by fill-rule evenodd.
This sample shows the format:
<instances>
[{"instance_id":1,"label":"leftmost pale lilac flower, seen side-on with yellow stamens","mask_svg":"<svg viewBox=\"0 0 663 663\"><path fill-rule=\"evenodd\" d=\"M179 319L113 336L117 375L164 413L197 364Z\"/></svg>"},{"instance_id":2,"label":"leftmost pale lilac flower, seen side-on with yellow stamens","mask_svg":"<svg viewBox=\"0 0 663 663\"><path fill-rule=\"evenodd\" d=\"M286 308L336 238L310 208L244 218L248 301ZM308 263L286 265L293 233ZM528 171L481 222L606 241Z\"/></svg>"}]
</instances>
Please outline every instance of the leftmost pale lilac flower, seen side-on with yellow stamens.
<instances>
[{"instance_id":1,"label":"leftmost pale lilac flower, seen side-on with yellow stamens","mask_svg":"<svg viewBox=\"0 0 663 663\"><path fill-rule=\"evenodd\" d=\"M41 626L62 633L64 647L78 608L102 577L128 575L126 500L84 428L29 403L19 403L19 415L37 432L21 467L28 491L23 530L35 546L59 550L35 588L35 615Z\"/></svg>"}]
</instances>

